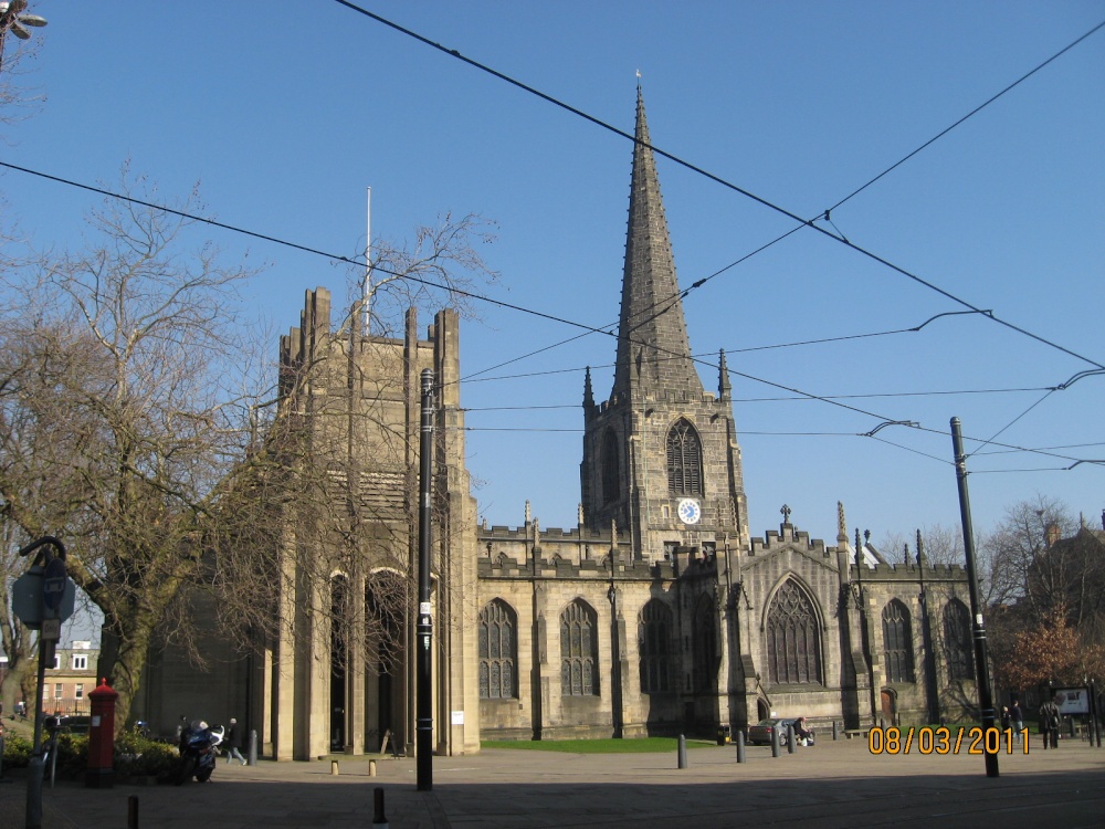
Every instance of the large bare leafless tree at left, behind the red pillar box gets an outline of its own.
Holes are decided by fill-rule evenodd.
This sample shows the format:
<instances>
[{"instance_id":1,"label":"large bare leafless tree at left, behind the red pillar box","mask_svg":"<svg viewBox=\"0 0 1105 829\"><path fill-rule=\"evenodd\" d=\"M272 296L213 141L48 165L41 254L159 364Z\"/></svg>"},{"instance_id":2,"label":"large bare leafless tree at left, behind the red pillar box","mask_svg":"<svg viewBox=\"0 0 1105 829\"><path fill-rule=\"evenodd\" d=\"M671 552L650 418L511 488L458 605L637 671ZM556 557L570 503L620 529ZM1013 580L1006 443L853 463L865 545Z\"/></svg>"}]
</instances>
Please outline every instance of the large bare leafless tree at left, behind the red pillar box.
<instances>
[{"instance_id":1,"label":"large bare leafless tree at left, behind the red pillar box","mask_svg":"<svg viewBox=\"0 0 1105 829\"><path fill-rule=\"evenodd\" d=\"M129 195L145 182L124 175ZM148 199L147 199L148 200ZM197 208L194 193L183 211ZM240 458L234 416L248 348L234 286L203 246L180 253L188 222L109 202L102 240L9 274L20 296L6 336L33 370L8 398L0 495L19 534L66 539L69 569L104 616L101 674L125 723L151 631L198 568L198 539Z\"/></svg>"}]
</instances>

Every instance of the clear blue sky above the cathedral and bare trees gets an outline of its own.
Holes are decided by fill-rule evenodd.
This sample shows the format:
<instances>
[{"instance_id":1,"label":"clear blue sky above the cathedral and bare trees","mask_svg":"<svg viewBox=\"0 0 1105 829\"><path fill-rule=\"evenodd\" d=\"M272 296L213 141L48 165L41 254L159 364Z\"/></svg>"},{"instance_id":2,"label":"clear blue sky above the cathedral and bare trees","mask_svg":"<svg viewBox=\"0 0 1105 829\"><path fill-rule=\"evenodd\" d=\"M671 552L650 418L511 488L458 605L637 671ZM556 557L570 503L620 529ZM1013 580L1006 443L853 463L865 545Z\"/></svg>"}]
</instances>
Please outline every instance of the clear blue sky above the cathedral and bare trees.
<instances>
[{"instance_id":1,"label":"clear blue sky above the cathedral and bare trees","mask_svg":"<svg viewBox=\"0 0 1105 829\"><path fill-rule=\"evenodd\" d=\"M656 147L807 218L1105 21L1101 1L361 4L627 132L640 70ZM20 83L45 99L0 125L0 160L112 185L130 159L167 201L199 181L209 216L346 255L364 246L366 187L373 235L396 241L448 211L480 213L498 223L484 254L502 279L488 295L596 327L617 319L624 138L330 0L30 11L50 23ZM687 295L692 349L716 363L724 348L732 370L776 384L732 378L754 534L778 525L783 503L829 541L838 501L875 541L956 524L953 416L968 438L1071 447L1053 458L968 440L976 529L1038 493L1097 525L1105 468L1060 468L1105 459L1105 375L1046 389L1105 363L1103 147L1105 30L831 214L855 245L1090 361L979 315L765 349L964 309L810 229ZM794 224L670 160L659 170L684 287ZM0 172L0 221L60 249L83 244L98 201L14 171ZM231 261L249 250L269 263L250 296L280 329L297 323L305 288L343 291L344 266L326 259L204 234ZM466 377L578 333L481 313L462 332ZM544 526L575 525L582 368L604 399L613 356L613 340L592 335L465 382L490 523L520 524L528 499ZM716 370L702 375L716 386ZM779 387L891 396L842 400L860 413L765 399L794 396ZM861 437L883 419L930 431Z\"/></svg>"}]
</instances>

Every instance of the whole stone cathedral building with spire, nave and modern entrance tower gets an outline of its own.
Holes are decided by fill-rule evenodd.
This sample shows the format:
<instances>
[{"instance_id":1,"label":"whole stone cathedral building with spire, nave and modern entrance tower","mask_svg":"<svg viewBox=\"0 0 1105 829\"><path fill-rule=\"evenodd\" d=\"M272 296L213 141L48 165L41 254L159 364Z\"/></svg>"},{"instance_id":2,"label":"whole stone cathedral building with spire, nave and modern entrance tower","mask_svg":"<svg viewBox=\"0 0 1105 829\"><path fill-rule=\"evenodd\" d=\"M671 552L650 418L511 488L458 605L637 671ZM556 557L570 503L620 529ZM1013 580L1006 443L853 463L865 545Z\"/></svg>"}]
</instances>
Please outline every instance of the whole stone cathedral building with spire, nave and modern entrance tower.
<instances>
[{"instance_id":1,"label":"whole stone cathedral building with spire, nave and modern entrance tower","mask_svg":"<svg viewBox=\"0 0 1105 829\"><path fill-rule=\"evenodd\" d=\"M298 567L292 562L305 550L325 566L288 574L298 587L278 612L294 623L213 683L223 694L215 712L246 712L265 753L377 752L385 735L413 751L413 602L377 619L391 632L386 642L335 629L365 627L383 594L409 595L417 573L425 367L440 389L439 753L476 752L481 738L712 736L769 715L846 728L880 717L926 723L972 706L960 568L929 566L919 548L887 563L857 532L850 541L839 505L832 546L792 524L787 507L778 529L753 535L725 354L708 367L707 388L692 357L640 88L635 137L617 367L606 399L585 378L575 527L540 526L528 503L519 527L477 525L455 314L438 314L424 339L413 314L401 339L341 334L329 294L307 292L299 327L281 343L285 375L299 378L282 389L281 417L301 418L333 448L326 475L346 506L334 526L290 521L287 550L299 555L287 566ZM327 601L339 608L335 597L348 609L311 612ZM166 700L179 683L166 679L169 661L158 664L161 690L151 693L162 694L154 707L164 722L177 713Z\"/></svg>"}]
</instances>

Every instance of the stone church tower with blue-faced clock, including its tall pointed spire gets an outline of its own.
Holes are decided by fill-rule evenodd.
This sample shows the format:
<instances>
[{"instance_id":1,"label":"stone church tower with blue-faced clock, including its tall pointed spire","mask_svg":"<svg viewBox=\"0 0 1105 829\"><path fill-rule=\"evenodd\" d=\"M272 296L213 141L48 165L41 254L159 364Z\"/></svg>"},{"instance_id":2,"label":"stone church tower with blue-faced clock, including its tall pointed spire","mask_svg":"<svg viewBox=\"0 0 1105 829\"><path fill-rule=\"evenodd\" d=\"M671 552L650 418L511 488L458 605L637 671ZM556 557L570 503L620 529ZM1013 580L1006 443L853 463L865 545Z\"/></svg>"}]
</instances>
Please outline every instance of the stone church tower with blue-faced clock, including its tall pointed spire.
<instances>
[{"instance_id":1,"label":"stone church tower with blue-faced clock, including its tall pointed spire","mask_svg":"<svg viewBox=\"0 0 1105 829\"><path fill-rule=\"evenodd\" d=\"M725 355L705 391L687 338L675 260L641 88L610 399L583 389L583 523L615 525L633 556L677 546L745 547L747 505ZM709 364L706 364L709 365Z\"/></svg>"}]
</instances>

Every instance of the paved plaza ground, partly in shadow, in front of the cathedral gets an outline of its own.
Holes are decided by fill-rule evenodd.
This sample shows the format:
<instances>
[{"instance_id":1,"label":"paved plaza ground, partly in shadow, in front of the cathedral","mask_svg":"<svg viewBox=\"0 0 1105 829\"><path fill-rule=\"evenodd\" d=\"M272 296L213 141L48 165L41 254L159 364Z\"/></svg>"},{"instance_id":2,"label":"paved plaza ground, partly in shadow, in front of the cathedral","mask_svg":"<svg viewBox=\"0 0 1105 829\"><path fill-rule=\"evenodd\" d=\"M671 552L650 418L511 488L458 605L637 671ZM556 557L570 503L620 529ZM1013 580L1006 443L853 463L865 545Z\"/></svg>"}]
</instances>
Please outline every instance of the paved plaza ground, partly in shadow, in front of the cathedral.
<instances>
[{"instance_id":1,"label":"paved plaza ground, partly in shadow, in front of the cathedral","mask_svg":"<svg viewBox=\"0 0 1105 829\"><path fill-rule=\"evenodd\" d=\"M872 755L863 739L824 741L772 757L749 746L691 748L687 767L671 754L577 755L491 749L434 757L431 791L415 789L413 759L367 757L228 766L213 781L117 784L90 789L59 781L43 790L44 829L128 827L371 827L373 790L389 826L401 829L518 827L1105 827L1105 748L1064 741L1060 748L1000 755L1000 777L961 754ZM22 829L25 781L0 784L0 829Z\"/></svg>"}]
</instances>

